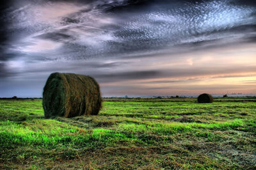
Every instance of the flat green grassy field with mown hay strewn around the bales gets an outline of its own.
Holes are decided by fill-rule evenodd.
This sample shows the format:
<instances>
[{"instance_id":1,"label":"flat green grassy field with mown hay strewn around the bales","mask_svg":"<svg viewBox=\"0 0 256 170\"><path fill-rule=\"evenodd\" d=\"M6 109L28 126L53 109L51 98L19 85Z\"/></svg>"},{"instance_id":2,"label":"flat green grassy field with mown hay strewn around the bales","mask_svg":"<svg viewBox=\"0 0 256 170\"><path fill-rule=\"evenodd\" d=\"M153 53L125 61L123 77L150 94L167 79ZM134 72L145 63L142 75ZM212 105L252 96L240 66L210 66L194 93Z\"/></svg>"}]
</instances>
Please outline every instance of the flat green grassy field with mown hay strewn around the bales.
<instances>
[{"instance_id":1,"label":"flat green grassy field with mown hay strewn around the bales","mask_svg":"<svg viewBox=\"0 0 256 170\"><path fill-rule=\"evenodd\" d=\"M0 100L0 148L1 169L256 169L256 99L108 98L69 119Z\"/></svg>"}]
</instances>

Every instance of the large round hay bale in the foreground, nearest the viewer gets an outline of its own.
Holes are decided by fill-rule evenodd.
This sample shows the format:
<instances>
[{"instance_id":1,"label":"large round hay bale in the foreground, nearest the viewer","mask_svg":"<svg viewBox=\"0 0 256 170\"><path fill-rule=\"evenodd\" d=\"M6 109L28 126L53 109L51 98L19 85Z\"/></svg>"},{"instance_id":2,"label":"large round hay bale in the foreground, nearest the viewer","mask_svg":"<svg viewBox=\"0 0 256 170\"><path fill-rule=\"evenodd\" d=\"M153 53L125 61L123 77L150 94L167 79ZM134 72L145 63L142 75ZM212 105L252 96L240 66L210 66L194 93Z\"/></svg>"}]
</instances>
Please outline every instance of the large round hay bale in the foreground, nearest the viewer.
<instances>
[{"instance_id":1,"label":"large round hay bale in the foreground, nearest the viewer","mask_svg":"<svg viewBox=\"0 0 256 170\"><path fill-rule=\"evenodd\" d=\"M52 73L44 86L43 107L46 118L96 115L101 109L99 84L90 76Z\"/></svg>"}]
</instances>

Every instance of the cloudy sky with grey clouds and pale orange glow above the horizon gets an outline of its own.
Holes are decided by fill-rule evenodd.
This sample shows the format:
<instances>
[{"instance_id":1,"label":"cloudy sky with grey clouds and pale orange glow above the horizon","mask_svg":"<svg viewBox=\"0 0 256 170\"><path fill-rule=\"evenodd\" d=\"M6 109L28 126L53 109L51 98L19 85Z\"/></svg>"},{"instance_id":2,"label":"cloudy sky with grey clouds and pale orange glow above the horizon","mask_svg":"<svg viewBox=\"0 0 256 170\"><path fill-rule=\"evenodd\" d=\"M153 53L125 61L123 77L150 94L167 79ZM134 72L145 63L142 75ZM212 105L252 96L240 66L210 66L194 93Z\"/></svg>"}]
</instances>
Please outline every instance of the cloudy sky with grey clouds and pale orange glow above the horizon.
<instances>
[{"instance_id":1,"label":"cloudy sky with grey clouds and pale orange glow above the horizon","mask_svg":"<svg viewBox=\"0 0 256 170\"><path fill-rule=\"evenodd\" d=\"M0 97L42 97L52 72L102 95L256 94L256 1L10 0Z\"/></svg>"}]
</instances>

